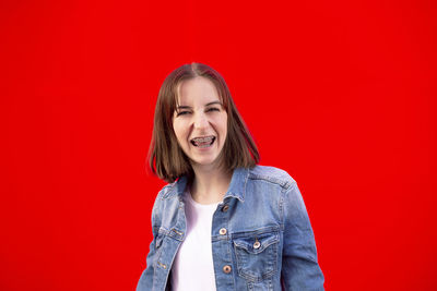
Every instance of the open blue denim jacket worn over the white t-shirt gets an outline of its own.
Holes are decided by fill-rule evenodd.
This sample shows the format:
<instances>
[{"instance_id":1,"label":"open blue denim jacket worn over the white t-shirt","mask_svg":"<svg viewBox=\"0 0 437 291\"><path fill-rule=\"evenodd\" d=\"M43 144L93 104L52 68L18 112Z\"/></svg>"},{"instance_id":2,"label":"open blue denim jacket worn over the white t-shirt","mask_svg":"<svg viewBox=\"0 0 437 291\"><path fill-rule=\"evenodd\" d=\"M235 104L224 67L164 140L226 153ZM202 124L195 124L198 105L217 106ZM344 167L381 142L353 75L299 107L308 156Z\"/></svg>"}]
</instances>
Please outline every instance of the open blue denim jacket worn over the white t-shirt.
<instances>
[{"instance_id":1,"label":"open blue denim jacket worn over the white t-shirt","mask_svg":"<svg viewBox=\"0 0 437 291\"><path fill-rule=\"evenodd\" d=\"M169 272L186 231L186 185L187 179L180 178L156 197L154 239L137 291L172 290ZM223 228L226 232L220 231ZM324 290L303 197L283 170L234 170L213 215L211 241L217 291Z\"/></svg>"}]
</instances>

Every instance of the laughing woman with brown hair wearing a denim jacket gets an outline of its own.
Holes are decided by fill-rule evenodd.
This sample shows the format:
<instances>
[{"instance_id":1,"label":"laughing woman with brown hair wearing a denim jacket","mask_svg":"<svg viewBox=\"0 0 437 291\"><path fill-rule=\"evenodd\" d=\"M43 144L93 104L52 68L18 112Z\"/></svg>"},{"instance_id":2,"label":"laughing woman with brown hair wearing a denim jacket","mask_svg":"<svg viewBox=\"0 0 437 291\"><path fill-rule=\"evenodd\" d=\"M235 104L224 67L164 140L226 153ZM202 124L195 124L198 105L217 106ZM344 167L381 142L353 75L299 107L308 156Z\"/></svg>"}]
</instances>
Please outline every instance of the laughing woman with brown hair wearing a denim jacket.
<instances>
[{"instance_id":1,"label":"laughing woman with brown hair wearing a denim jacket","mask_svg":"<svg viewBox=\"0 0 437 291\"><path fill-rule=\"evenodd\" d=\"M161 87L150 148L170 184L137 291L323 290L296 182L259 154L223 77L185 64Z\"/></svg>"}]
</instances>

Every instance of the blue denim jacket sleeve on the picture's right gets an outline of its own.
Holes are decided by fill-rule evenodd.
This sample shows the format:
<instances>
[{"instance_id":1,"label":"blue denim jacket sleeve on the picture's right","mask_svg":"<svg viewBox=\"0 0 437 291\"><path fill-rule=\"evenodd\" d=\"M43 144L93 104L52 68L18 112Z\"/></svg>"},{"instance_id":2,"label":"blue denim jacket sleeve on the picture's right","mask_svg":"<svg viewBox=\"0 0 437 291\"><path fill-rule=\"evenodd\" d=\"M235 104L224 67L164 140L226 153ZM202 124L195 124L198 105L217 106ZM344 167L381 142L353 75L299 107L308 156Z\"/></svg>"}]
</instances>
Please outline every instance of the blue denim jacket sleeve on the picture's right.
<instances>
[{"instance_id":1,"label":"blue denim jacket sleeve on the picture's right","mask_svg":"<svg viewBox=\"0 0 437 291\"><path fill-rule=\"evenodd\" d=\"M282 196L284 245L283 290L324 290L323 274L317 262L316 242L304 199L296 182Z\"/></svg>"}]
</instances>

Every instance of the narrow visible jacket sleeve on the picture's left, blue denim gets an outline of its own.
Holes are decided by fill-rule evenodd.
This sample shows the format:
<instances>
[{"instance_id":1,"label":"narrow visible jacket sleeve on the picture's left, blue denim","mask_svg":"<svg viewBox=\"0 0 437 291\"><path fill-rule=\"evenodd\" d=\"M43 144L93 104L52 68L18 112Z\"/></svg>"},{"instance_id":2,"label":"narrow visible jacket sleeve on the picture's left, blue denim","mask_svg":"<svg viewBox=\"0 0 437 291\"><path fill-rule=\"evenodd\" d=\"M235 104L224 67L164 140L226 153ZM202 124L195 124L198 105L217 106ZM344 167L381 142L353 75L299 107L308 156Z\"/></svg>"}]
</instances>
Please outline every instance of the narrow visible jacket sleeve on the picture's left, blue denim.
<instances>
[{"instance_id":1,"label":"narrow visible jacket sleeve on the picture's left, blue denim","mask_svg":"<svg viewBox=\"0 0 437 291\"><path fill-rule=\"evenodd\" d=\"M158 198L156 198L155 204L153 205L152 209L152 230L156 226L156 203ZM154 268L155 268L155 255L156 255L156 235L157 232L153 231L153 240L149 246L149 254L146 257L146 268L142 272L140 280L138 281L137 284L137 291L149 291L152 290L153 286L153 274L154 274Z\"/></svg>"}]
</instances>

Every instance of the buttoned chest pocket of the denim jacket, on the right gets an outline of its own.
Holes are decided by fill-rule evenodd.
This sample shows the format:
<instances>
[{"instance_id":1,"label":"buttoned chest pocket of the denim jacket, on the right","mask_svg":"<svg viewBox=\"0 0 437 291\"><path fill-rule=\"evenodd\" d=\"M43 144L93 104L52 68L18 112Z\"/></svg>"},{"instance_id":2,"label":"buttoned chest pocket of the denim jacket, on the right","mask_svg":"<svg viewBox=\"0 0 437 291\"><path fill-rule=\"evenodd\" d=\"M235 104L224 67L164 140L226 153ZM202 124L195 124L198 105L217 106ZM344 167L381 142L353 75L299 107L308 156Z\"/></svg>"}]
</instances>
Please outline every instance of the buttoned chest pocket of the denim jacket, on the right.
<instances>
[{"instance_id":1,"label":"buttoned chest pocket of the denim jacket, on the right","mask_svg":"<svg viewBox=\"0 0 437 291\"><path fill-rule=\"evenodd\" d=\"M247 234L233 241L240 277L259 282L276 272L279 232Z\"/></svg>"}]
</instances>

